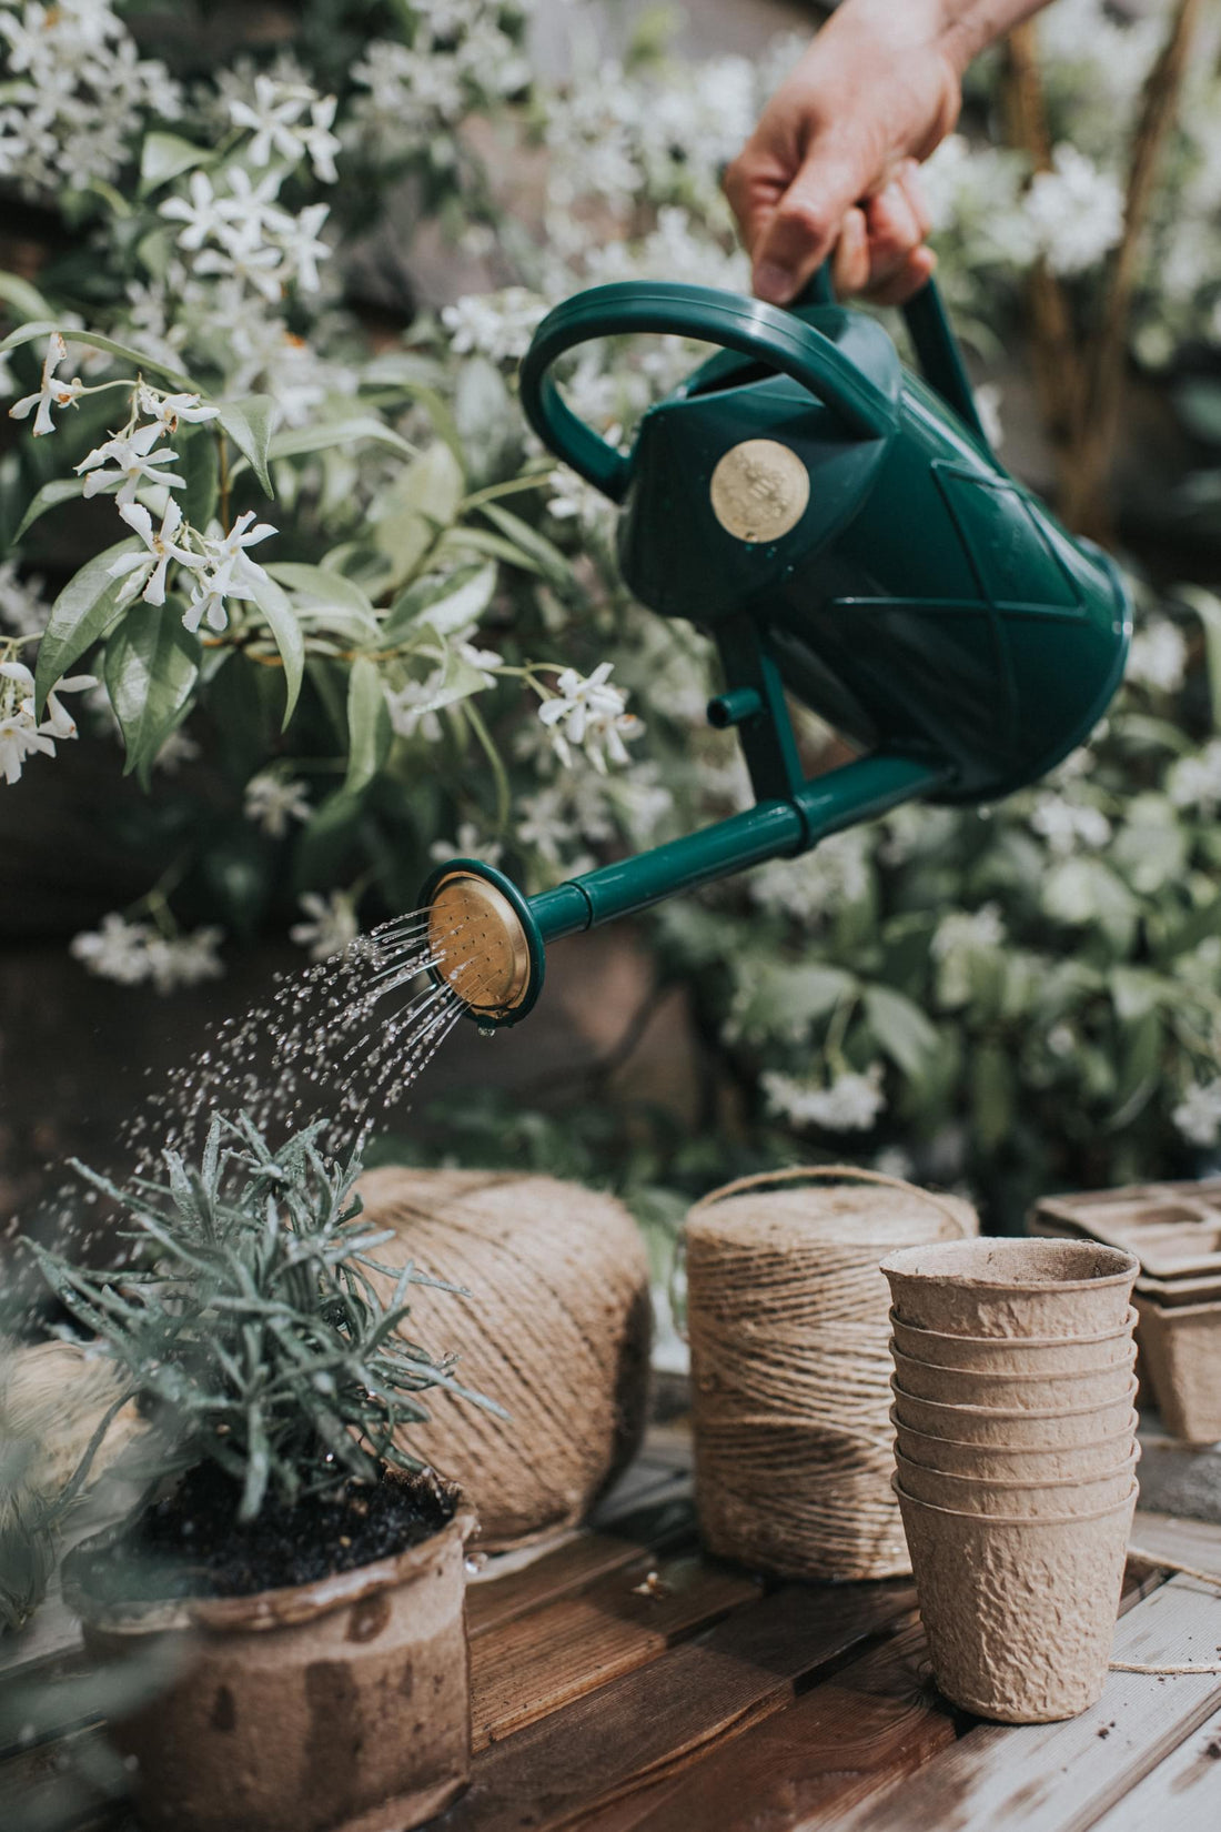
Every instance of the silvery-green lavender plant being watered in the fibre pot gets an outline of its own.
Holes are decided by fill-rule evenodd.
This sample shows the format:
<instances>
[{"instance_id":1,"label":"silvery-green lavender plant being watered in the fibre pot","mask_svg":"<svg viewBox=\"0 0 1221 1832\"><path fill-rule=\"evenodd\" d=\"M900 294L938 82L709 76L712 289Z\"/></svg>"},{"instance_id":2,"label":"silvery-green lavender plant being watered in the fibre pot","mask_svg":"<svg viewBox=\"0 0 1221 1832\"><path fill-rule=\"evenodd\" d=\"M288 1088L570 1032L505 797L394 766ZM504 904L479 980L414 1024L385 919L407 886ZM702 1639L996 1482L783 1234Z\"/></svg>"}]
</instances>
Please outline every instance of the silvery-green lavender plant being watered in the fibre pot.
<instances>
[{"instance_id":1,"label":"silvery-green lavender plant being watered in the fibre pot","mask_svg":"<svg viewBox=\"0 0 1221 1832\"><path fill-rule=\"evenodd\" d=\"M165 1150L163 1182L119 1187L75 1165L130 1218L117 1231L130 1264L97 1270L35 1244L121 1370L115 1407L139 1396L150 1411L157 1473L220 1466L240 1521L269 1495L291 1506L383 1466L419 1469L399 1433L428 1416L428 1389L498 1411L454 1378L454 1356L403 1334L412 1286L456 1288L410 1262L379 1266L392 1231L361 1220L361 1163L330 1165L322 1127L273 1152L247 1116L216 1116L198 1165ZM388 1301L372 1273L394 1281Z\"/></svg>"}]
</instances>

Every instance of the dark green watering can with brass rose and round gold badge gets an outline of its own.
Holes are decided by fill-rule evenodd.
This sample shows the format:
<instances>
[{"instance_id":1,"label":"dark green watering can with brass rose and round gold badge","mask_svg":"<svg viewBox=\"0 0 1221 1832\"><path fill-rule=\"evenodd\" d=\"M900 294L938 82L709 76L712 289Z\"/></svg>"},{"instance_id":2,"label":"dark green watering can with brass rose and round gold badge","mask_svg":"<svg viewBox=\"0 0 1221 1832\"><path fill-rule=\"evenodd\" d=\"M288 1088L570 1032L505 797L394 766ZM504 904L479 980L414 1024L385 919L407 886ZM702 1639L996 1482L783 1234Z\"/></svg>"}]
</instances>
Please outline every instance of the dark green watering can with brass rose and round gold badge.
<instances>
[{"instance_id":1,"label":"dark green watering can with brass rose and round gold badge","mask_svg":"<svg viewBox=\"0 0 1221 1832\"><path fill-rule=\"evenodd\" d=\"M452 859L423 890L445 978L483 1026L535 1004L547 942L778 856L899 802L992 802L1080 744L1124 672L1131 605L996 462L932 282L904 308L924 379L875 319L703 286L599 286L558 306L522 363L531 427L622 509L635 595L716 643L756 804L525 898ZM719 344L652 407L630 454L558 394L556 357L595 337ZM860 749L807 779L785 691Z\"/></svg>"}]
</instances>

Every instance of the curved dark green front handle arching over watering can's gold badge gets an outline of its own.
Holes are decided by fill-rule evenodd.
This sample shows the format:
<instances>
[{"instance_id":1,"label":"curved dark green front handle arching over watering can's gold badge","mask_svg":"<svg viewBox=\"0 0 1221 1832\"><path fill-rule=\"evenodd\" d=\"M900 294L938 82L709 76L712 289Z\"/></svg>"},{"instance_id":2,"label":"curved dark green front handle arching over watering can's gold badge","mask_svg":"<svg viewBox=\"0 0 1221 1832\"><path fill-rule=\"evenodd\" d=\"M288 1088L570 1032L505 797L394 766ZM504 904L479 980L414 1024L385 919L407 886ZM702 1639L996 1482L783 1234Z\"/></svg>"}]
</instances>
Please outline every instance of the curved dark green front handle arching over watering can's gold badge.
<instances>
[{"instance_id":1,"label":"curved dark green front handle arching over watering can's gold badge","mask_svg":"<svg viewBox=\"0 0 1221 1832\"><path fill-rule=\"evenodd\" d=\"M780 306L674 280L595 286L549 311L535 332L522 359L522 409L538 438L611 502L626 495L630 462L577 418L549 370L577 344L632 332L696 337L769 363L835 409L857 438L879 440L895 429L882 390L829 337Z\"/></svg>"}]
</instances>

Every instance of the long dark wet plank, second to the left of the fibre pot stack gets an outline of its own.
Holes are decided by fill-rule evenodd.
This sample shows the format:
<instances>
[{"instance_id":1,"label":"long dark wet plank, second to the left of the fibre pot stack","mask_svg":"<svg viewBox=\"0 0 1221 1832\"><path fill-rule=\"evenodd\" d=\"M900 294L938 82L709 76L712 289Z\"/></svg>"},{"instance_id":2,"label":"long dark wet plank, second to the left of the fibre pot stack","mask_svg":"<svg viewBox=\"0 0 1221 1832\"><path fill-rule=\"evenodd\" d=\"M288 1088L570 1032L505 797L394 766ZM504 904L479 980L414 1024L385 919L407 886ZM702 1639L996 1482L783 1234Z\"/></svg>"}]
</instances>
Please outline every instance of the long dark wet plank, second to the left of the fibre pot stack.
<instances>
[{"instance_id":1,"label":"long dark wet plank, second to the left of the fibre pot stack","mask_svg":"<svg viewBox=\"0 0 1221 1832\"><path fill-rule=\"evenodd\" d=\"M783 1588L553 1711L474 1762L443 1832L551 1832L652 1786L793 1698L913 1607L910 1585Z\"/></svg>"}]
</instances>

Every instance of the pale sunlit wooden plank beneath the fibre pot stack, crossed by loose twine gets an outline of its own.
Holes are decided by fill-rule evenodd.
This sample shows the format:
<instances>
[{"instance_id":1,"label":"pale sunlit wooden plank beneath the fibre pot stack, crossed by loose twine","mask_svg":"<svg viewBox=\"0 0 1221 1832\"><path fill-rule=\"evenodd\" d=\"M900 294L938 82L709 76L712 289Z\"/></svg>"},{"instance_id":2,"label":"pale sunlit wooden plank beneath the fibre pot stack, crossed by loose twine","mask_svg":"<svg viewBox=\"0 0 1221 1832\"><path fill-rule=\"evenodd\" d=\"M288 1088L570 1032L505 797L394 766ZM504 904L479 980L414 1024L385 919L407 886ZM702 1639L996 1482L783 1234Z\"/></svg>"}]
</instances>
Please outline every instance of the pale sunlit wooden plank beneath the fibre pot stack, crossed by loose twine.
<instances>
[{"instance_id":1,"label":"pale sunlit wooden plank beneath the fibre pot stack, crossed by loose twine","mask_svg":"<svg viewBox=\"0 0 1221 1832\"><path fill-rule=\"evenodd\" d=\"M1129 1608L1115 1658L1216 1660L1221 1596L1172 1577ZM1062 1724L978 1724L952 1750L881 1799L844 1816L837 1832L1084 1832L1221 1706L1221 1674L1155 1678L1113 1673L1093 1709Z\"/></svg>"}]
</instances>

